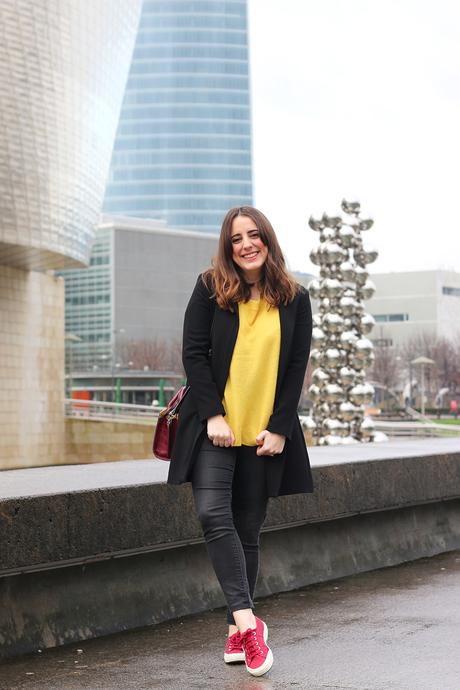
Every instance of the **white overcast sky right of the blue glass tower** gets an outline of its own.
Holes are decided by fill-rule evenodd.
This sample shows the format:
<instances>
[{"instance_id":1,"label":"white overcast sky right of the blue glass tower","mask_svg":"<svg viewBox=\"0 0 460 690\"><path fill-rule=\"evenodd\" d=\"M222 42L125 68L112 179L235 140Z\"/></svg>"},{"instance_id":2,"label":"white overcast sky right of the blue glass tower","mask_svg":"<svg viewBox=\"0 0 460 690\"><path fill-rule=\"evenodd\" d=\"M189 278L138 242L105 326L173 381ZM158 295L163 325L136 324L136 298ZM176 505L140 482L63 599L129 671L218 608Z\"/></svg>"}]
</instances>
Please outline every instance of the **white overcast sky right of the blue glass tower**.
<instances>
[{"instance_id":1,"label":"white overcast sky right of the blue glass tower","mask_svg":"<svg viewBox=\"0 0 460 690\"><path fill-rule=\"evenodd\" d=\"M460 4L249 0L255 205L293 270L359 199L371 272L460 271Z\"/></svg>"}]
</instances>

